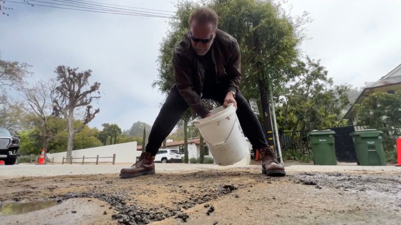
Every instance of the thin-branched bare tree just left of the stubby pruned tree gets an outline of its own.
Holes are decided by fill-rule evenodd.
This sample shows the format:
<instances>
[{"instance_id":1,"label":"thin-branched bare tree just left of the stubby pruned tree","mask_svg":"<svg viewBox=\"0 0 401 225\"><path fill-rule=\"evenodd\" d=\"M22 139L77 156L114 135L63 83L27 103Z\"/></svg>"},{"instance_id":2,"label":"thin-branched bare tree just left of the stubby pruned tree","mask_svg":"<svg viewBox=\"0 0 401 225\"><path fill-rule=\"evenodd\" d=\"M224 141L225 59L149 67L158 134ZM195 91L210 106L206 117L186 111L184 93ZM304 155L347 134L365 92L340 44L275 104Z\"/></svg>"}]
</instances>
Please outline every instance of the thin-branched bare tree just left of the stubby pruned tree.
<instances>
[{"instance_id":1,"label":"thin-branched bare tree just left of the stubby pruned tree","mask_svg":"<svg viewBox=\"0 0 401 225\"><path fill-rule=\"evenodd\" d=\"M55 138L57 132L52 130L49 121L58 117L58 108L54 108L56 98L56 80L37 81L32 87L25 87L20 94L24 100L20 102L22 108L35 117L39 121L34 121L40 129L40 135L43 136L43 148L47 150L48 144Z\"/></svg>"}]
</instances>

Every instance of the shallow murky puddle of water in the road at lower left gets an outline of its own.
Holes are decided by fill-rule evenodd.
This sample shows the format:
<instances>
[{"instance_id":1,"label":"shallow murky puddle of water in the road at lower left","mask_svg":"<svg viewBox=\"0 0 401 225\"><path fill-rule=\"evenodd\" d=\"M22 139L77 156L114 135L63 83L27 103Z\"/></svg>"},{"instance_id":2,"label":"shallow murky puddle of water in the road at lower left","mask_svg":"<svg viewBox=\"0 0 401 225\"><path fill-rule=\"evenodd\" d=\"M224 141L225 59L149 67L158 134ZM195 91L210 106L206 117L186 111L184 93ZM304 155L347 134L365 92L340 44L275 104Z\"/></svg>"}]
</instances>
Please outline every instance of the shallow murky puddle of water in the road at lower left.
<instances>
[{"instance_id":1,"label":"shallow murky puddle of water in the road at lower left","mask_svg":"<svg viewBox=\"0 0 401 225\"><path fill-rule=\"evenodd\" d=\"M3 203L0 209L0 215L23 214L31 211L36 211L48 207L55 206L57 201L31 201L31 202L16 202L16 203Z\"/></svg>"}]
</instances>

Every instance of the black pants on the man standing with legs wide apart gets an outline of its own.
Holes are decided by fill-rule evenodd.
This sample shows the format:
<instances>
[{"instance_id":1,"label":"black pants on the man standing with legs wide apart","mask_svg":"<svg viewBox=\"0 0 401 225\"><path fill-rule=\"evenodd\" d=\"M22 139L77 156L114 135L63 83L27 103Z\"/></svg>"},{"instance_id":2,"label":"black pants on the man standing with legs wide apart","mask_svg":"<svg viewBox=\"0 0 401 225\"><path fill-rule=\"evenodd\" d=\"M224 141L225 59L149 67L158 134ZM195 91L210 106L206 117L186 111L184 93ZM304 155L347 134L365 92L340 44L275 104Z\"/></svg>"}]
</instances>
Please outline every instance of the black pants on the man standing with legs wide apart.
<instances>
[{"instance_id":1,"label":"black pants on the man standing with legs wide apart","mask_svg":"<svg viewBox=\"0 0 401 225\"><path fill-rule=\"evenodd\" d=\"M211 98L223 105L224 98L226 97L225 90L226 88L206 88L206 91L203 92L202 99ZM251 142L252 148L258 149L267 147L268 145L262 126L240 91L237 92L236 101L238 120L245 136L248 137ZM188 107L188 104L174 85L150 130L148 143L146 145L147 152L151 152L153 155L157 153L163 140L170 134Z\"/></svg>"}]
</instances>

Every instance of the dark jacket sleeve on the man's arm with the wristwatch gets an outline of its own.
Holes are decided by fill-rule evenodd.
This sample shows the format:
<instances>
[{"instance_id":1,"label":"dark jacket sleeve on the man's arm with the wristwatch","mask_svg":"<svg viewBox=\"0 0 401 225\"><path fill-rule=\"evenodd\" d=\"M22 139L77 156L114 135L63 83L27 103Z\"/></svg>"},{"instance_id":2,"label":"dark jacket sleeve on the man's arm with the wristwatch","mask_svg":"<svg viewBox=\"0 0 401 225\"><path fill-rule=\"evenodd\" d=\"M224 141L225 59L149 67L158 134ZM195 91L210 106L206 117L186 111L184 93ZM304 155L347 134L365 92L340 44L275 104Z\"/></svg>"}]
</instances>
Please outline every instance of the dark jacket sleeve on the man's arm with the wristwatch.
<instances>
[{"instance_id":1,"label":"dark jacket sleeve on the man's arm with the wristwatch","mask_svg":"<svg viewBox=\"0 0 401 225\"><path fill-rule=\"evenodd\" d=\"M241 82L241 51L240 45L236 39L233 39L233 54L229 58L227 74L230 77L227 92L232 90L237 93Z\"/></svg>"}]
</instances>

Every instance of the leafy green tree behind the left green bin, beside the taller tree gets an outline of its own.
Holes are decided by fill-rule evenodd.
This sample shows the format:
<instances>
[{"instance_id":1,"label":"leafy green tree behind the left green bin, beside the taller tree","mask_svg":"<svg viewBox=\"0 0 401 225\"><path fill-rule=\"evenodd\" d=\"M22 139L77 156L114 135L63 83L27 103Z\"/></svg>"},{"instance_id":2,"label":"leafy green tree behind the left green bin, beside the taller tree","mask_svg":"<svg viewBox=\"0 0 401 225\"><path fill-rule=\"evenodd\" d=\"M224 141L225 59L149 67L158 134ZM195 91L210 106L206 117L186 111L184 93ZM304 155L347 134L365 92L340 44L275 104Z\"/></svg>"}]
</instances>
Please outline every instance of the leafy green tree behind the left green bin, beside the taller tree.
<instances>
[{"instance_id":1,"label":"leafy green tree behind the left green bin, beside the taller tree","mask_svg":"<svg viewBox=\"0 0 401 225\"><path fill-rule=\"evenodd\" d=\"M332 127L338 122L342 110L349 104L348 85L334 85L328 71L309 57L298 64L299 75L291 79L285 89L285 98L279 110L278 124L282 131L295 131L301 135L313 129ZM299 139L299 149L304 150Z\"/></svg>"}]
</instances>

